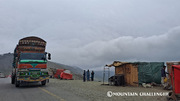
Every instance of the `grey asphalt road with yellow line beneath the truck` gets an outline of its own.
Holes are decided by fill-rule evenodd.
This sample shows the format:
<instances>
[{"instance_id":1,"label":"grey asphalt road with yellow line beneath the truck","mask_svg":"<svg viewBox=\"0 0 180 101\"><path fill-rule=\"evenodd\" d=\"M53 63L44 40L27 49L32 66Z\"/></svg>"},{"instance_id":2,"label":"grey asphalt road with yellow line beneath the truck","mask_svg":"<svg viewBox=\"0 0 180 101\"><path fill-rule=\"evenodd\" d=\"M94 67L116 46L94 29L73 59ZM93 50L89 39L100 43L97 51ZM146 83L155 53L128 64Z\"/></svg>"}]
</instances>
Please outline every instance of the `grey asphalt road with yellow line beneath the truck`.
<instances>
[{"instance_id":1,"label":"grey asphalt road with yellow line beneath the truck","mask_svg":"<svg viewBox=\"0 0 180 101\"><path fill-rule=\"evenodd\" d=\"M0 101L85 101L50 84L31 84L16 88L10 81L11 78L0 78Z\"/></svg>"}]
</instances>

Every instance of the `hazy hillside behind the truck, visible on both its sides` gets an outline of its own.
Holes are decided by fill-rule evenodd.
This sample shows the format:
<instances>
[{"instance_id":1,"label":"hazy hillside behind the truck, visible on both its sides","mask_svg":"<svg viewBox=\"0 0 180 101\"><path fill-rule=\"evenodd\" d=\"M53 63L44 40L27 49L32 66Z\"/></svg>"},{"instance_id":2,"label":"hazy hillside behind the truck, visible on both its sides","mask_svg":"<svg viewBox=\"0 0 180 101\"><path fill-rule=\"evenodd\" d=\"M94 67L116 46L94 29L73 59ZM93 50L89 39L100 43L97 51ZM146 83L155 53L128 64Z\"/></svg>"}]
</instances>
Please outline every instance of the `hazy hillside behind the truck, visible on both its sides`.
<instances>
[{"instance_id":1,"label":"hazy hillside behind the truck, visible on both its sides","mask_svg":"<svg viewBox=\"0 0 180 101\"><path fill-rule=\"evenodd\" d=\"M13 53L6 53L0 55L0 72L4 73L5 75L11 74L12 71L12 62L13 62ZM79 67L75 66L68 66L60 63L55 63L48 61L47 62L48 68L59 68L59 69L68 69L73 74L74 79L82 79L83 70Z\"/></svg>"}]
</instances>

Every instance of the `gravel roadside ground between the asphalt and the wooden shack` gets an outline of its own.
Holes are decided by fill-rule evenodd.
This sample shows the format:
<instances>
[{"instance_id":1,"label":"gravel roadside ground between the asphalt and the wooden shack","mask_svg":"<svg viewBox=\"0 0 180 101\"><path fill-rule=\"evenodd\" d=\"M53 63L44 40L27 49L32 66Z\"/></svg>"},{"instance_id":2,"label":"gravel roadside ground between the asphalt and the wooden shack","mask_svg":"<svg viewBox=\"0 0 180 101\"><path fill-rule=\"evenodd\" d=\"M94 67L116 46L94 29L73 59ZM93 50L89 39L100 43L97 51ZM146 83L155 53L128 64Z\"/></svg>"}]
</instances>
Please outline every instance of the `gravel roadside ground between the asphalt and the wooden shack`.
<instances>
[{"instance_id":1,"label":"gravel roadside ground between the asphalt and the wooden shack","mask_svg":"<svg viewBox=\"0 0 180 101\"><path fill-rule=\"evenodd\" d=\"M108 86L101 85L102 82L89 81L83 82L82 80L58 80L50 79L49 87L56 88L58 90L64 90L80 98L89 101L166 101L166 96L140 96L142 92L169 92L163 90L161 87L143 88L143 87L121 87L121 86ZM107 92L120 92L121 94L138 94L136 96L112 96L108 97ZM134 93L133 93L134 92ZM111 94L111 93L110 93ZM68 97L68 96L66 96ZM66 98L65 98L66 99Z\"/></svg>"}]
</instances>

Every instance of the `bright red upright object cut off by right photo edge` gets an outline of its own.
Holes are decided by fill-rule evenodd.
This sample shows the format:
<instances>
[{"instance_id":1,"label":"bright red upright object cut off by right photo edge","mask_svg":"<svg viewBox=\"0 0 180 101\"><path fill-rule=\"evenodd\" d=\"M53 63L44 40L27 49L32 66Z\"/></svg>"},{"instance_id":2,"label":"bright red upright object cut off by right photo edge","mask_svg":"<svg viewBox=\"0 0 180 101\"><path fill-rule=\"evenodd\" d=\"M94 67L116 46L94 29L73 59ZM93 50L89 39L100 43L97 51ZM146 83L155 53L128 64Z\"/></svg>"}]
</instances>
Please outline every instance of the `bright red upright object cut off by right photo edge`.
<instances>
[{"instance_id":1,"label":"bright red upright object cut off by right photo edge","mask_svg":"<svg viewBox=\"0 0 180 101\"><path fill-rule=\"evenodd\" d=\"M175 94L180 94L180 65L173 65L171 70L171 83Z\"/></svg>"}]
</instances>

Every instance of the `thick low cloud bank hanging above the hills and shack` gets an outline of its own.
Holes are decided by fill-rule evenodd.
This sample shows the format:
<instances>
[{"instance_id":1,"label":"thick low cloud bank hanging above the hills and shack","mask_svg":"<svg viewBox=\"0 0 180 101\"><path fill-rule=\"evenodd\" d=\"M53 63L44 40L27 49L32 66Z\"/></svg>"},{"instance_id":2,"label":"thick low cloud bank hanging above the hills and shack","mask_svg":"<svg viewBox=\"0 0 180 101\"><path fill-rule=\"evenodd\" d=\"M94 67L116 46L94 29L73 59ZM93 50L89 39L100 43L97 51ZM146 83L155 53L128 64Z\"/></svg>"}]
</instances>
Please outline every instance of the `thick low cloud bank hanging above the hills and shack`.
<instances>
[{"instance_id":1,"label":"thick low cloud bank hanging above the hills and shack","mask_svg":"<svg viewBox=\"0 0 180 101\"><path fill-rule=\"evenodd\" d=\"M180 27L176 27L162 35L123 36L108 41L94 41L79 47L65 46L55 49L58 50L55 52L58 54L55 60L82 68L101 67L115 60L178 61L179 38Z\"/></svg>"}]
</instances>

